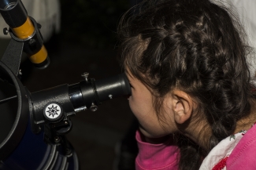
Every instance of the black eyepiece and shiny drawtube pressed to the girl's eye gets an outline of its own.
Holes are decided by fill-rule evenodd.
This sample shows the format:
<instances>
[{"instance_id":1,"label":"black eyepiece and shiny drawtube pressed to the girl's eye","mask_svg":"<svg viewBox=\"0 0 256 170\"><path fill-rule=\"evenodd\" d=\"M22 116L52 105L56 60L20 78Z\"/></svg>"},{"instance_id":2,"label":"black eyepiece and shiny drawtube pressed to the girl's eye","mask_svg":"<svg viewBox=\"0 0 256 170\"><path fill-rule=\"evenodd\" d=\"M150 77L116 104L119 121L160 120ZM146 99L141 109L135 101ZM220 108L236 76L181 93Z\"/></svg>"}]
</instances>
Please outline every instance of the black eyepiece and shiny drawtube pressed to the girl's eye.
<instances>
[{"instance_id":1,"label":"black eyepiece and shiny drawtube pressed to the girl's eye","mask_svg":"<svg viewBox=\"0 0 256 170\"><path fill-rule=\"evenodd\" d=\"M69 86L69 97L74 110L84 110L103 101L132 94L128 78L125 74L117 74L110 78L95 80L85 79Z\"/></svg>"}]
</instances>

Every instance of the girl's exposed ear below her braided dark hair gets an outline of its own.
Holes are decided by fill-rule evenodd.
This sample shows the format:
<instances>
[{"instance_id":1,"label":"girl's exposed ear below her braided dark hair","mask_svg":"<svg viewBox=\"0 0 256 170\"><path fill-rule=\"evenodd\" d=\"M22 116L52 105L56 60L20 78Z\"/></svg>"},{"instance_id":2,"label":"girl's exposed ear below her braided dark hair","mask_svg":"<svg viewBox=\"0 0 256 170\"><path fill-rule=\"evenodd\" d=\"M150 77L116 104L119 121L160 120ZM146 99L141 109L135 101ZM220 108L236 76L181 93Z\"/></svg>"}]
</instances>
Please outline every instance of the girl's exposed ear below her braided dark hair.
<instances>
[{"instance_id":1,"label":"girl's exposed ear below her braided dark hair","mask_svg":"<svg viewBox=\"0 0 256 170\"><path fill-rule=\"evenodd\" d=\"M193 100L191 99L191 96L181 90L174 90L172 95L174 119L176 123L183 124L185 121L191 118L191 113L194 107Z\"/></svg>"}]
</instances>

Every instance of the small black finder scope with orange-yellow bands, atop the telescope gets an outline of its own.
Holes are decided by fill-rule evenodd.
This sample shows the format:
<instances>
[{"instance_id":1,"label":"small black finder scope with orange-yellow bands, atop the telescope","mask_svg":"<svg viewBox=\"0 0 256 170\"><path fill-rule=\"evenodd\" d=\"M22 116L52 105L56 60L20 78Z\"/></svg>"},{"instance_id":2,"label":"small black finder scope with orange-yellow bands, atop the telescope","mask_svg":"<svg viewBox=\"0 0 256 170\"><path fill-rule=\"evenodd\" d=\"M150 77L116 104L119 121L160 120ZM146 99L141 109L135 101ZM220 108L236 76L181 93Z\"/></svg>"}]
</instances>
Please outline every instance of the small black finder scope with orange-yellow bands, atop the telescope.
<instances>
[{"instance_id":1,"label":"small black finder scope with orange-yellow bands, atop the telescope","mask_svg":"<svg viewBox=\"0 0 256 170\"><path fill-rule=\"evenodd\" d=\"M50 59L39 32L41 25L28 16L23 3L20 0L0 1L0 13L10 27L4 29L4 34L9 33L17 42L24 42L24 52L35 67L47 67Z\"/></svg>"}]
</instances>

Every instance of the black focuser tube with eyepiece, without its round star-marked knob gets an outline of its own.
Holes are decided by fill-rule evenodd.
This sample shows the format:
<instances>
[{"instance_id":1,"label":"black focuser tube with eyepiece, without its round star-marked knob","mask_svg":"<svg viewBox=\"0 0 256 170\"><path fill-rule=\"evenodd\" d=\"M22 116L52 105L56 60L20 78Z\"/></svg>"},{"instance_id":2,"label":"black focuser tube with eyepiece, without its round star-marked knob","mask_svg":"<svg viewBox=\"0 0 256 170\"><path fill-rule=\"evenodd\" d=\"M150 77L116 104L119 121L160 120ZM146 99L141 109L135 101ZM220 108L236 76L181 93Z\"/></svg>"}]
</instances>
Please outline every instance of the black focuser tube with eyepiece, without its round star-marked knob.
<instances>
[{"instance_id":1,"label":"black focuser tube with eyepiece, without its round star-marked knob","mask_svg":"<svg viewBox=\"0 0 256 170\"><path fill-rule=\"evenodd\" d=\"M45 122L43 110L48 103L60 103L65 113L80 110L95 110L103 101L120 96L131 95L131 87L125 74L110 78L86 79L74 85L58 85L30 94L32 120L36 125ZM96 109L97 110L97 109Z\"/></svg>"}]
</instances>

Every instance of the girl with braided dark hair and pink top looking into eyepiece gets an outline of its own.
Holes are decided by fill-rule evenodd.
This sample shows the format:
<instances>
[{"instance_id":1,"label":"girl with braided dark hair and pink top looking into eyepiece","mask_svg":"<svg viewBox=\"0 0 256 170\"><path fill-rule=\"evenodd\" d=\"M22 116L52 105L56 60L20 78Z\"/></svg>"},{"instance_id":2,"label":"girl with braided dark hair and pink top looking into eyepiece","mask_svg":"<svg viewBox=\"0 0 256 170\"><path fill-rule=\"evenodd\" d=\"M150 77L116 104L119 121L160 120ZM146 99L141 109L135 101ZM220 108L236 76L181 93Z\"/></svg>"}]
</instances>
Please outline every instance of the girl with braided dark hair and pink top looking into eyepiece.
<instances>
[{"instance_id":1,"label":"girl with braided dark hair and pink top looking into eyepiece","mask_svg":"<svg viewBox=\"0 0 256 170\"><path fill-rule=\"evenodd\" d=\"M126 16L136 169L256 169L250 48L235 16L209 0L146 1Z\"/></svg>"}]
</instances>

